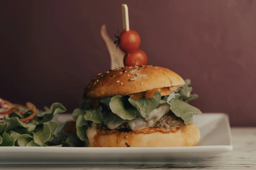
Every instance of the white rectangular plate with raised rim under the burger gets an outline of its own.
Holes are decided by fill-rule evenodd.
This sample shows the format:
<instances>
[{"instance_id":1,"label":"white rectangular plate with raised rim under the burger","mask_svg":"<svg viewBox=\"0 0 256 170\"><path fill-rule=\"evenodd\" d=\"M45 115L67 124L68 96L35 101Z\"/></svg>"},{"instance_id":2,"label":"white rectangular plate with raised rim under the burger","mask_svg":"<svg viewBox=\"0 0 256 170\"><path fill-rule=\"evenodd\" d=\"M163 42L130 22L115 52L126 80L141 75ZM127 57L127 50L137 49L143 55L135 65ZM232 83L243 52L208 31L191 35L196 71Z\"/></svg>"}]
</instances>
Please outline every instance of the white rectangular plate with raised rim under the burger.
<instances>
[{"instance_id":1,"label":"white rectangular plate with raised rim under the burger","mask_svg":"<svg viewBox=\"0 0 256 170\"><path fill-rule=\"evenodd\" d=\"M60 120L70 120L60 115ZM194 147L68 148L0 147L0 163L190 163L232 150L226 114L194 115L201 139Z\"/></svg>"}]
</instances>

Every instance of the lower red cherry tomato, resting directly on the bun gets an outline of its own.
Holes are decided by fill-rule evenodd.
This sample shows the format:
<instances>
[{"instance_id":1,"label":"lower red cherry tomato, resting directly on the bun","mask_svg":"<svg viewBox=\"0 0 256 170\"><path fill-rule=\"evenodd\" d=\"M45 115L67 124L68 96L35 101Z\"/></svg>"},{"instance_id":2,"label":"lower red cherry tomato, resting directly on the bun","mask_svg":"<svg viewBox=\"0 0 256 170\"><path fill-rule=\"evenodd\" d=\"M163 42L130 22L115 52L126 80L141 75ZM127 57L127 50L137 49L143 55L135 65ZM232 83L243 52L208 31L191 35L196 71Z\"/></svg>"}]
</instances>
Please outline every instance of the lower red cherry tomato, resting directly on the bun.
<instances>
[{"instance_id":1,"label":"lower red cherry tomato, resting directly on the bun","mask_svg":"<svg viewBox=\"0 0 256 170\"><path fill-rule=\"evenodd\" d=\"M124 65L147 65L147 56L143 50L137 49L133 53L125 55Z\"/></svg>"}]
</instances>

